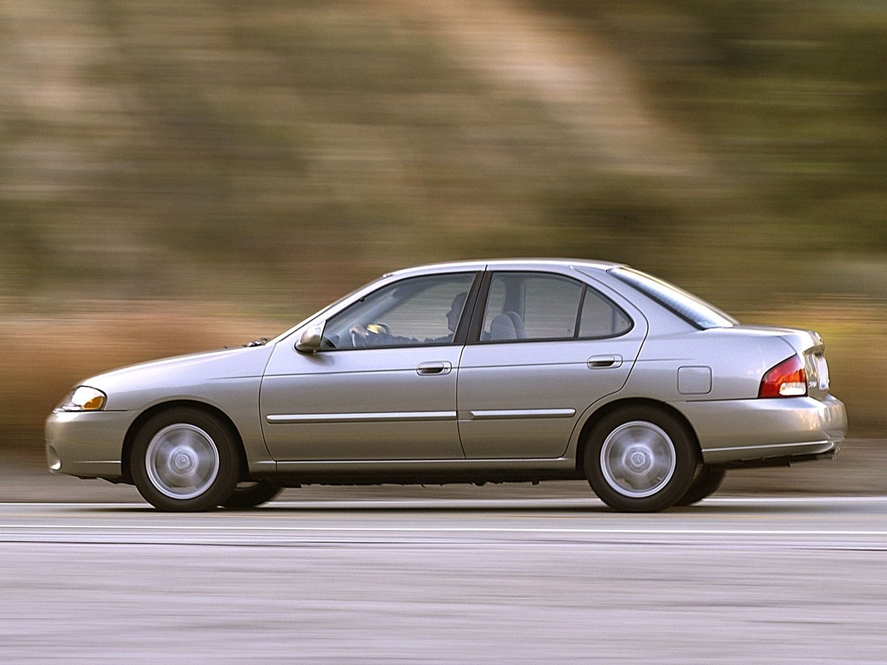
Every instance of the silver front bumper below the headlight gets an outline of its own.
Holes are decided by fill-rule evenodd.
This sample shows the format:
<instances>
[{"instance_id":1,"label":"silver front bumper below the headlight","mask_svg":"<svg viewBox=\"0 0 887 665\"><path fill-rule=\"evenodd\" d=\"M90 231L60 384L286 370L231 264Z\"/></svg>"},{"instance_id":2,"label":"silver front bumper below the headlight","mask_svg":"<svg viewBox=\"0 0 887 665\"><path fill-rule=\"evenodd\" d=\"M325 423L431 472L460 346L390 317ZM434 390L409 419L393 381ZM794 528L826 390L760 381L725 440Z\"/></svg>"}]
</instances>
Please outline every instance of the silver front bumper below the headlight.
<instances>
[{"instance_id":1,"label":"silver front bumper below the headlight","mask_svg":"<svg viewBox=\"0 0 887 665\"><path fill-rule=\"evenodd\" d=\"M130 411L53 411L46 419L46 461L52 473L118 479Z\"/></svg>"}]
</instances>

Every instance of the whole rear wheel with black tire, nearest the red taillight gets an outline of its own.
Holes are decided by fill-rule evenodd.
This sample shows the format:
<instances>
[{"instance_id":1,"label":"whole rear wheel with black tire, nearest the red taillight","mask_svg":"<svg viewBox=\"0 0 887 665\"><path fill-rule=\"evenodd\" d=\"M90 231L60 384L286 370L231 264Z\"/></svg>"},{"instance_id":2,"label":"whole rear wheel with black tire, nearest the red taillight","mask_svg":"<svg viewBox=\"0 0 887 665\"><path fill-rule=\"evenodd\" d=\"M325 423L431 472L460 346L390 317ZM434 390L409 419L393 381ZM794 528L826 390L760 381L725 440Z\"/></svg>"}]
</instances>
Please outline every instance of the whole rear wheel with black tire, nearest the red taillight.
<instances>
[{"instance_id":1,"label":"whole rear wheel with black tire, nearest the red taillight","mask_svg":"<svg viewBox=\"0 0 887 665\"><path fill-rule=\"evenodd\" d=\"M699 458L687 426L667 411L613 411L592 429L585 476L605 504L622 512L658 512L687 494Z\"/></svg>"}]
</instances>

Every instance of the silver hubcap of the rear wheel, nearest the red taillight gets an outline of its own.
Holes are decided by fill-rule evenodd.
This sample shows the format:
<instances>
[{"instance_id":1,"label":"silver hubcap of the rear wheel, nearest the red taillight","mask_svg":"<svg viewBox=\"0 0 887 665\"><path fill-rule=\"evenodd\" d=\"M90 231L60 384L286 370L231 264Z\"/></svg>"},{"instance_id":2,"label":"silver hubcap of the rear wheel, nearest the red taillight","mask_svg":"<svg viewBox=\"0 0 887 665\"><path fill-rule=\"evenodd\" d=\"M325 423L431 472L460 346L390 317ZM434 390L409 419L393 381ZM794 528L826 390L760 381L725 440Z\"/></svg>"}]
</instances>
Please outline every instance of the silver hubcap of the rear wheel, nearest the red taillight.
<instances>
[{"instance_id":1,"label":"silver hubcap of the rear wheel, nearest the red taillight","mask_svg":"<svg viewBox=\"0 0 887 665\"><path fill-rule=\"evenodd\" d=\"M650 497L674 474L674 443L662 427L632 420L616 427L600 448L600 470L625 497Z\"/></svg>"}]
</instances>

